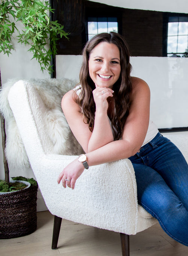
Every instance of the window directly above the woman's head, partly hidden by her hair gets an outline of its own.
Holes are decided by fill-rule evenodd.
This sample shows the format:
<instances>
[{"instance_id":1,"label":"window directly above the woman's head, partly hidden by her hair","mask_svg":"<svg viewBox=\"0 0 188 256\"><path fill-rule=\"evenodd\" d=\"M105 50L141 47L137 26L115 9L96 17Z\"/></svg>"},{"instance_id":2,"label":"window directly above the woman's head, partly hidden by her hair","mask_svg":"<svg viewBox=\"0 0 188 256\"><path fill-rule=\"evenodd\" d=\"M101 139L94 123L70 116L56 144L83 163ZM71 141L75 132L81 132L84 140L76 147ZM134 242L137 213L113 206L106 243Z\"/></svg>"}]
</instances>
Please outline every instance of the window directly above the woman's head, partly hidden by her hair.
<instances>
[{"instance_id":1,"label":"window directly above the woman's head, partly hidden by her hair","mask_svg":"<svg viewBox=\"0 0 188 256\"><path fill-rule=\"evenodd\" d=\"M86 32L88 40L96 34L111 31L118 32L116 17L88 17Z\"/></svg>"}]
</instances>

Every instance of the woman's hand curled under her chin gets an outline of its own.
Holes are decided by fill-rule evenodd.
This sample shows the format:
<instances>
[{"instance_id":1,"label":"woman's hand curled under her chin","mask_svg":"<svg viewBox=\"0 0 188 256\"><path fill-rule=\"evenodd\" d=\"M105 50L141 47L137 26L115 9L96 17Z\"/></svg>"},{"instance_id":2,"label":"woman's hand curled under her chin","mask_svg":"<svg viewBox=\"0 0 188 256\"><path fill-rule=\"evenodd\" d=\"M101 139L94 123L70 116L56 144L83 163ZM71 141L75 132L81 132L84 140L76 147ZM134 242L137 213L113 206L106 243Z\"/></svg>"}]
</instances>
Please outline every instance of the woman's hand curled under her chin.
<instances>
[{"instance_id":1,"label":"woman's hand curled under her chin","mask_svg":"<svg viewBox=\"0 0 188 256\"><path fill-rule=\"evenodd\" d=\"M107 111L108 110L108 97L113 97L113 90L109 87L99 87L96 85L96 89L93 90L93 97L96 103L96 110Z\"/></svg>"}]
</instances>

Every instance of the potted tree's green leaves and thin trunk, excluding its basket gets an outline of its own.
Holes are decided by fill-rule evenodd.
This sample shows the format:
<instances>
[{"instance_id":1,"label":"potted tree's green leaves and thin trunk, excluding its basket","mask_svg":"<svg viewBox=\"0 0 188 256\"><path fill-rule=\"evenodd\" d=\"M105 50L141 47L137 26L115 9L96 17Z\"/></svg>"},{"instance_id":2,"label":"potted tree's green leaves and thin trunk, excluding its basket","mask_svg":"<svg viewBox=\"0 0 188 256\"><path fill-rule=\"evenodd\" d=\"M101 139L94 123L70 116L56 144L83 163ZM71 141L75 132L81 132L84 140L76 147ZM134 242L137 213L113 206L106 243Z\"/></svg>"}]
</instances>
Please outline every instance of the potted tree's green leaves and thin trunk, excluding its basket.
<instances>
[{"instance_id":1,"label":"potted tree's green leaves and thin trunk, excluding its basket","mask_svg":"<svg viewBox=\"0 0 188 256\"><path fill-rule=\"evenodd\" d=\"M50 19L49 14L52 12L49 1L45 0L0 0L0 52L8 56L11 54L15 35L15 41L29 45L29 51L39 62L42 72L46 69L51 74L50 62L57 52L57 41L62 37L68 38L68 33L63 30L64 26ZM5 181L9 183L9 168L5 156L5 120L2 114L1 130Z\"/></svg>"}]
</instances>

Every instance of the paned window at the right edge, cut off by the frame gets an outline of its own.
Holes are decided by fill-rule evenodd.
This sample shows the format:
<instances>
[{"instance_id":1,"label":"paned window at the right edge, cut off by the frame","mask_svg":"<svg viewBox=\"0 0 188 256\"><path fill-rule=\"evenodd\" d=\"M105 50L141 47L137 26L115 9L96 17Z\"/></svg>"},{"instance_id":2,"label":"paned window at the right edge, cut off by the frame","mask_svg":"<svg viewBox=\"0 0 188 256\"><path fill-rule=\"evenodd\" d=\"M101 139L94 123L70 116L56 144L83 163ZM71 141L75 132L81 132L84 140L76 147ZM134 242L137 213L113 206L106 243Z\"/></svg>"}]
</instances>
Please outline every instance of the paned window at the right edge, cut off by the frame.
<instances>
[{"instance_id":1,"label":"paned window at the right edge, cut off by the frame","mask_svg":"<svg viewBox=\"0 0 188 256\"><path fill-rule=\"evenodd\" d=\"M167 56L188 57L188 17L169 17Z\"/></svg>"}]
</instances>

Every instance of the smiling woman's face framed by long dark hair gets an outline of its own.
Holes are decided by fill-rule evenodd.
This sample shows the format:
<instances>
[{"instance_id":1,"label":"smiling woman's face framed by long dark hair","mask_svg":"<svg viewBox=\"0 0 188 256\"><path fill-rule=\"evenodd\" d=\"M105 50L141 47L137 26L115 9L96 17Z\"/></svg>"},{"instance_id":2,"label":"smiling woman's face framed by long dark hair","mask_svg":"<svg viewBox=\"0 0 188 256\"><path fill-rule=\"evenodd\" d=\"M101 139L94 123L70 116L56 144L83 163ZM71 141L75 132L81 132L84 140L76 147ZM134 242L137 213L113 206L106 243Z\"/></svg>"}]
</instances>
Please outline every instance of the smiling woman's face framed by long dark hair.
<instances>
[{"instance_id":1,"label":"smiling woman's face framed by long dark hair","mask_svg":"<svg viewBox=\"0 0 188 256\"><path fill-rule=\"evenodd\" d=\"M89 75L96 87L112 88L121 73L120 51L113 43L101 42L89 55Z\"/></svg>"}]
</instances>

